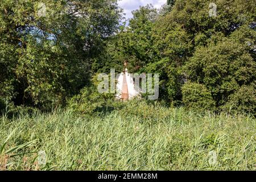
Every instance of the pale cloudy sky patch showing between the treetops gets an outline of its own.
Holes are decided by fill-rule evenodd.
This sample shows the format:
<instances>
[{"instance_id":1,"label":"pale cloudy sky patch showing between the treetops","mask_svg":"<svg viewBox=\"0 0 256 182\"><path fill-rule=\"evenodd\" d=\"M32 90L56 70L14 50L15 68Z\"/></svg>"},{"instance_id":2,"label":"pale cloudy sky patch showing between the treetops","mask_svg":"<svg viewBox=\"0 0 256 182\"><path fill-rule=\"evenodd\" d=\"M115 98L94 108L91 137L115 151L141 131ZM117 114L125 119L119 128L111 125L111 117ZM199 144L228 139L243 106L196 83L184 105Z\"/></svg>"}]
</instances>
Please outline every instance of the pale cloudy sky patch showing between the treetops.
<instances>
[{"instance_id":1,"label":"pale cloudy sky patch showing between the treetops","mask_svg":"<svg viewBox=\"0 0 256 182\"><path fill-rule=\"evenodd\" d=\"M152 4L155 8L159 9L167 0L120 0L118 5L122 7L126 14L126 19L133 18L131 11L139 9L139 6L146 6Z\"/></svg>"}]
</instances>

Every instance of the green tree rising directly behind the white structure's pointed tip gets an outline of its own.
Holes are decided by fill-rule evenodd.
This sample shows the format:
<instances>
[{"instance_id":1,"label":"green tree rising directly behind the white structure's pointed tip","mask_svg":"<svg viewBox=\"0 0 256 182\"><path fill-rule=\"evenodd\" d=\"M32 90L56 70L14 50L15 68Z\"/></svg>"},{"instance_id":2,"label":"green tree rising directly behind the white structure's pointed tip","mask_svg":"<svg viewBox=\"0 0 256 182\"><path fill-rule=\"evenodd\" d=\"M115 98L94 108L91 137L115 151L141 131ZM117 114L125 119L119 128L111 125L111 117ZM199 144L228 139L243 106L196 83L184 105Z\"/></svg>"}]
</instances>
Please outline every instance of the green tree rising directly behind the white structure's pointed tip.
<instances>
[{"instance_id":1,"label":"green tree rising directly behind the white structure's pointed tip","mask_svg":"<svg viewBox=\"0 0 256 182\"><path fill-rule=\"evenodd\" d=\"M151 30L157 16L156 9L150 5L143 6L133 11L133 15L134 18L130 19L129 27L121 29L109 42L108 51L104 52L109 55L109 59L97 60L97 62L103 62L104 67L122 71L123 62L127 61L129 72L138 72L140 68L153 61ZM121 65L121 68L117 65Z\"/></svg>"}]
</instances>

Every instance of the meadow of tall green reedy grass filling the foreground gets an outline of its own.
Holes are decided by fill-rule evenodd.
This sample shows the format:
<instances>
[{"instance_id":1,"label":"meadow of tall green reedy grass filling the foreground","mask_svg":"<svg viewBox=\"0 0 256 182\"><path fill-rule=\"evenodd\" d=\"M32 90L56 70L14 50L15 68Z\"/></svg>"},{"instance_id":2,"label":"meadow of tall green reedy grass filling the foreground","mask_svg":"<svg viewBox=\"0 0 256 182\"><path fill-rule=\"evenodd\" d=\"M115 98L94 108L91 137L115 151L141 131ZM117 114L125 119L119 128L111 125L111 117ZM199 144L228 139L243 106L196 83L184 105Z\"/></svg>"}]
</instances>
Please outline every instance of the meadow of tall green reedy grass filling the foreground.
<instances>
[{"instance_id":1,"label":"meadow of tall green reedy grass filling the foreground","mask_svg":"<svg viewBox=\"0 0 256 182\"><path fill-rule=\"evenodd\" d=\"M1 170L255 170L255 159L250 115L128 102L93 116L57 109L0 118Z\"/></svg>"}]
</instances>

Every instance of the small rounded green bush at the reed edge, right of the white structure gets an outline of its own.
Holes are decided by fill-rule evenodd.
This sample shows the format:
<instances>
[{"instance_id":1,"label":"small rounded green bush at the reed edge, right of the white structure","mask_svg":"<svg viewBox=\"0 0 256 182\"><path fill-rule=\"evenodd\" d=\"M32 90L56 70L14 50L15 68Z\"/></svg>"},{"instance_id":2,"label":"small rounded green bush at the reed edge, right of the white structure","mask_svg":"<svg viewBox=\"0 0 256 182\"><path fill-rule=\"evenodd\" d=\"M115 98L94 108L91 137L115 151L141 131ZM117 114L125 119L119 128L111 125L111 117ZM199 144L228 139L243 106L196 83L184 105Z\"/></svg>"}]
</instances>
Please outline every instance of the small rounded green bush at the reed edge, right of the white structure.
<instances>
[{"instance_id":1,"label":"small rounded green bush at the reed edge, right of the white structure","mask_svg":"<svg viewBox=\"0 0 256 182\"><path fill-rule=\"evenodd\" d=\"M187 82L182 86L182 94L185 107L194 110L214 110L212 94L205 85Z\"/></svg>"}]
</instances>

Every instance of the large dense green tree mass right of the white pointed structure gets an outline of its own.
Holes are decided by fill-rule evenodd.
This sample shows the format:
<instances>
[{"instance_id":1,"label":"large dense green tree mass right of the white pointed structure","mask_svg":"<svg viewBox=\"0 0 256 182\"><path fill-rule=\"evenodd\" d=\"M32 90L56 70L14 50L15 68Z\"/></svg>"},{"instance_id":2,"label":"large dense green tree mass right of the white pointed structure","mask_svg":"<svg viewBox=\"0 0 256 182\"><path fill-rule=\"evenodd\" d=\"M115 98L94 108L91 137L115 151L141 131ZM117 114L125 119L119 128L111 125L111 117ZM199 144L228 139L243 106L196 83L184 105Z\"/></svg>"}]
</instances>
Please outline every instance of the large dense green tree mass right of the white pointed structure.
<instances>
[{"instance_id":1,"label":"large dense green tree mass right of the white pointed structure","mask_svg":"<svg viewBox=\"0 0 256 182\"><path fill-rule=\"evenodd\" d=\"M181 100L181 87L190 80L206 86L221 106L255 80L253 3L217 1L217 17L212 17L209 1L177 0L160 16L152 31L158 58L147 68L161 73L171 101Z\"/></svg>"}]
</instances>

